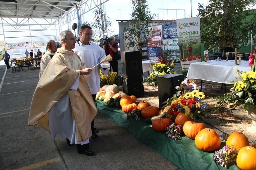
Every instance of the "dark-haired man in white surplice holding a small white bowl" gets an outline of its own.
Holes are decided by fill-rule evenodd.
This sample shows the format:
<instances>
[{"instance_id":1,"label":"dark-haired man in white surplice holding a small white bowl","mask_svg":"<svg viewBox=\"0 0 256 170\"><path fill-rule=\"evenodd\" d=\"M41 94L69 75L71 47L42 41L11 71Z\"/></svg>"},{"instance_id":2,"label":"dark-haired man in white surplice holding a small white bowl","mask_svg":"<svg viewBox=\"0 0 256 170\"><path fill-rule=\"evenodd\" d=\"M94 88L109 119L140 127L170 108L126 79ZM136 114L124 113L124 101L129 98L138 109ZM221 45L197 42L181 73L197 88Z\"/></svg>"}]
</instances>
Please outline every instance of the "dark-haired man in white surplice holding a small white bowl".
<instances>
[{"instance_id":1,"label":"dark-haired man in white surplice holding a small white bowl","mask_svg":"<svg viewBox=\"0 0 256 170\"><path fill-rule=\"evenodd\" d=\"M92 42L92 28L90 26L84 25L79 29L80 39L77 41L73 51L81 57L81 60L86 63L86 67L92 68L101 62L102 59L106 57L105 51L99 46L99 44ZM108 75L109 69L101 68L100 65L92 69L90 73L91 79L88 83L90 91L92 93L92 98L95 100L97 92L100 91L100 69L104 75ZM94 121L92 121L92 139L98 137L98 130L93 127Z\"/></svg>"}]
</instances>

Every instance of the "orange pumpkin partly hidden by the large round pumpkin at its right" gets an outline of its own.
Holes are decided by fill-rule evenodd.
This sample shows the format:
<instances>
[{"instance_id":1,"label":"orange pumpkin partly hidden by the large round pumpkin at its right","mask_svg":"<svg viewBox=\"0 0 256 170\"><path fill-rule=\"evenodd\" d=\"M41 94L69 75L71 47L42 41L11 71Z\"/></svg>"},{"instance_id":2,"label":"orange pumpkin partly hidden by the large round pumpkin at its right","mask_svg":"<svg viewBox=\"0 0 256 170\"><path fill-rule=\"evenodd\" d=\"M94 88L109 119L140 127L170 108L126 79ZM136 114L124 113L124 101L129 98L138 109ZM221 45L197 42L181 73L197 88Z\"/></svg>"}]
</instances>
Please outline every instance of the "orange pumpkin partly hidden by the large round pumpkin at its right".
<instances>
[{"instance_id":1,"label":"orange pumpkin partly hidden by the large round pumpkin at its right","mask_svg":"<svg viewBox=\"0 0 256 170\"><path fill-rule=\"evenodd\" d=\"M195 139L197 133L204 128L207 128L204 123L196 123L192 121L187 121L183 125L183 132L186 137L190 139Z\"/></svg>"}]
</instances>

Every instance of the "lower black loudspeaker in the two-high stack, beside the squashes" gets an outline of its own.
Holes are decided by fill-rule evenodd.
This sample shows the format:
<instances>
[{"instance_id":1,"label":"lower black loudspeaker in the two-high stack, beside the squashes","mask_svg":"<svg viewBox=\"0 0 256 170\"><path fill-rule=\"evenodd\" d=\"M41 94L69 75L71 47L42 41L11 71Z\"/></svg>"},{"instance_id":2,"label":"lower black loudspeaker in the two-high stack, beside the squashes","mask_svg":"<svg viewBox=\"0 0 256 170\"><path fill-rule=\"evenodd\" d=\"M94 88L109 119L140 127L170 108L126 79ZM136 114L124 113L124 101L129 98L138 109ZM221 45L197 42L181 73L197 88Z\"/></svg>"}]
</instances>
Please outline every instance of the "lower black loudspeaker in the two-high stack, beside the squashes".
<instances>
[{"instance_id":1,"label":"lower black loudspeaker in the two-high stack, beside the squashes","mask_svg":"<svg viewBox=\"0 0 256 170\"><path fill-rule=\"evenodd\" d=\"M143 77L122 77L123 92L127 95L134 95L136 97L142 97L144 95L144 86L141 83Z\"/></svg>"}]
</instances>

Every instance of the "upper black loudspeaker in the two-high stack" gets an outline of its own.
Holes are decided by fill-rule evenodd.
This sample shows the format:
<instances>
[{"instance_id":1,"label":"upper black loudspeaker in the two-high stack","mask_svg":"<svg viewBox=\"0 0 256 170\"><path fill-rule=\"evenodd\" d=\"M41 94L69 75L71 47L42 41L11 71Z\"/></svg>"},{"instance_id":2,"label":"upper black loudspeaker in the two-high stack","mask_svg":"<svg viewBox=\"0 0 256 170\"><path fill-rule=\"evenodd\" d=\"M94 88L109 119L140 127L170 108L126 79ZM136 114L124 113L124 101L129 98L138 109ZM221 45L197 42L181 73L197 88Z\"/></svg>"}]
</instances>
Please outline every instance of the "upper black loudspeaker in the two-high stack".
<instances>
[{"instance_id":1,"label":"upper black loudspeaker in the two-high stack","mask_svg":"<svg viewBox=\"0 0 256 170\"><path fill-rule=\"evenodd\" d=\"M123 63L123 77L140 77L142 75L141 51L122 51L121 62Z\"/></svg>"}]
</instances>

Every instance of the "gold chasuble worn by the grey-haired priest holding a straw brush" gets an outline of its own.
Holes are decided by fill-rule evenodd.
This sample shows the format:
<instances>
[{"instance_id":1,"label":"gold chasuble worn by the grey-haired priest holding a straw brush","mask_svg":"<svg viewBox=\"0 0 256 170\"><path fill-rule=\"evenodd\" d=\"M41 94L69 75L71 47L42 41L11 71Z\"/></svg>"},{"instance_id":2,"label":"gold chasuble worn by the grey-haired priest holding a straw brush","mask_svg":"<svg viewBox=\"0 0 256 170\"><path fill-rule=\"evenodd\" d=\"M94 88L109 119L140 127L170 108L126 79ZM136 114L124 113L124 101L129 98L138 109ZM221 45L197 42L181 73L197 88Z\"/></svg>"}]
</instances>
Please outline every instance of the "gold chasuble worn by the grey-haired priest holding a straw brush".
<instances>
[{"instance_id":1,"label":"gold chasuble worn by the grey-haired priest holding a straw brush","mask_svg":"<svg viewBox=\"0 0 256 170\"><path fill-rule=\"evenodd\" d=\"M68 92L72 116L76 119L78 141L85 141L92 136L91 122L97 115L97 109L87 85L90 76L79 74L84 68L86 68L85 64L78 55L58 48L36 86L29 112L29 126L38 124L50 131L48 113ZM80 75L78 89L71 90L70 87L78 75Z\"/></svg>"}]
</instances>

